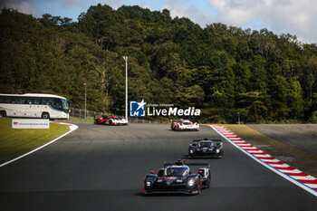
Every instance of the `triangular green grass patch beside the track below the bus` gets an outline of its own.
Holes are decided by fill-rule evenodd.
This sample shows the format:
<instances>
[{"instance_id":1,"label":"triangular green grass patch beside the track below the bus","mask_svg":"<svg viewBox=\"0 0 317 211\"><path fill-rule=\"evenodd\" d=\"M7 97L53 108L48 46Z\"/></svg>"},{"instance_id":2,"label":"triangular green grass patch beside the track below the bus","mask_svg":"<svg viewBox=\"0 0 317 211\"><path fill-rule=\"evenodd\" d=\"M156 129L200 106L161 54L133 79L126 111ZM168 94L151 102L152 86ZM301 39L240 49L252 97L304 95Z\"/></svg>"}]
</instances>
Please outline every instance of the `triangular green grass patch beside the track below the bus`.
<instances>
[{"instance_id":1,"label":"triangular green grass patch beside the track below the bus","mask_svg":"<svg viewBox=\"0 0 317 211\"><path fill-rule=\"evenodd\" d=\"M12 129L11 118L0 118L0 163L36 149L69 131L67 125L50 123L50 129Z\"/></svg>"}]
</instances>

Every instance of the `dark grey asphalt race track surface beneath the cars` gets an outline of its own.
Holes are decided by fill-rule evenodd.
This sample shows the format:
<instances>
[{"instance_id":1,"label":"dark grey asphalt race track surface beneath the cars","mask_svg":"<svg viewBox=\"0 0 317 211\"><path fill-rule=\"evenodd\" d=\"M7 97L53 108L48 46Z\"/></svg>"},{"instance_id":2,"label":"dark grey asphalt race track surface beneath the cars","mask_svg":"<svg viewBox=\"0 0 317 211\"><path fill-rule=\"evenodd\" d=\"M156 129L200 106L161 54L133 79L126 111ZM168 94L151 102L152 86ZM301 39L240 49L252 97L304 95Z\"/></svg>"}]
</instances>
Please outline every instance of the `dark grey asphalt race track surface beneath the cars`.
<instances>
[{"instance_id":1,"label":"dark grey asphalt race track surface beneath the cars","mask_svg":"<svg viewBox=\"0 0 317 211\"><path fill-rule=\"evenodd\" d=\"M166 124L80 128L0 168L0 210L317 210L317 197L224 143L210 161L212 184L197 196L142 194L143 178L164 160L186 158L191 139L220 139L208 126L176 132Z\"/></svg>"}]
</instances>

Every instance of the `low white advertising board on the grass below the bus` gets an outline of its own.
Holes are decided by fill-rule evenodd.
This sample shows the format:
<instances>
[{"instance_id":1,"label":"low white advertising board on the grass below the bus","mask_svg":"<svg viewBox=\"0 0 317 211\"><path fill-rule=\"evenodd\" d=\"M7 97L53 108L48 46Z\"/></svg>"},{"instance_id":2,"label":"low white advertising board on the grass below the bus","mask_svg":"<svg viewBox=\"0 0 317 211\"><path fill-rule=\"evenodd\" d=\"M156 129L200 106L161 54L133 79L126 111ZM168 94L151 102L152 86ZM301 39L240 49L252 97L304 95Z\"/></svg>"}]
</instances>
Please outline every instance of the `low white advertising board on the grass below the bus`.
<instances>
[{"instance_id":1,"label":"low white advertising board on the grass below the bus","mask_svg":"<svg viewBox=\"0 0 317 211\"><path fill-rule=\"evenodd\" d=\"M13 119L13 129L50 129L50 120Z\"/></svg>"}]
</instances>

